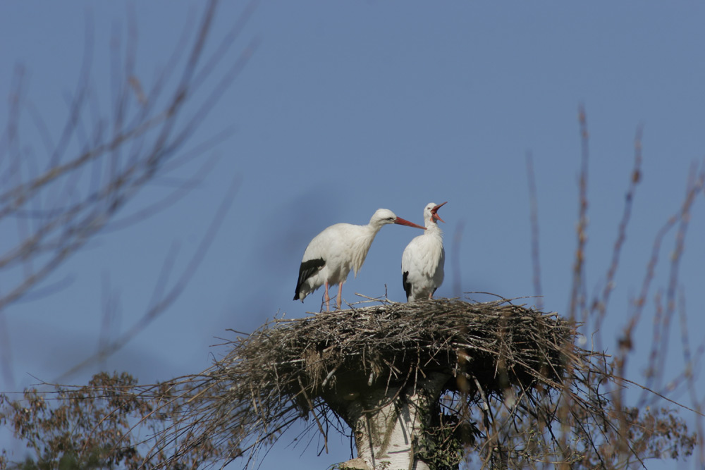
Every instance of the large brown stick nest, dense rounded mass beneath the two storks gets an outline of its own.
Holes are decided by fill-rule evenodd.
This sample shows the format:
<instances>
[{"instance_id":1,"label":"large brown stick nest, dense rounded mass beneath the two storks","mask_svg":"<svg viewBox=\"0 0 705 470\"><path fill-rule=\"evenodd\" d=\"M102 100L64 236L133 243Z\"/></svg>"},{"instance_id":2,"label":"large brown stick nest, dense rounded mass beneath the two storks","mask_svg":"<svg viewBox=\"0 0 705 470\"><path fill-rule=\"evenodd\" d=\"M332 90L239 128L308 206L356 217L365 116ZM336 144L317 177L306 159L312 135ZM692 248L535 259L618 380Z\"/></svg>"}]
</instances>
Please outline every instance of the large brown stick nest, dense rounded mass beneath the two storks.
<instances>
[{"instance_id":1,"label":"large brown stick nest, dense rounded mass beneath the two storks","mask_svg":"<svg viewBox=\"0 0 705 470\"><path fill-rule=\"evenodd\" d=\"M257 396L338 397L353 388L408 383L419 373L453 376L448 390L498 392L508 385L558 386L574 330L556 314L504 300L439 299L276 320L236 343L238 364ZM472 376L473 381L467 381ZM477 382L474 379L477 378ZM336 385L344 390L337 390ZM477 391L477 390L475 390Z\"/></svg>"}]
</instances>

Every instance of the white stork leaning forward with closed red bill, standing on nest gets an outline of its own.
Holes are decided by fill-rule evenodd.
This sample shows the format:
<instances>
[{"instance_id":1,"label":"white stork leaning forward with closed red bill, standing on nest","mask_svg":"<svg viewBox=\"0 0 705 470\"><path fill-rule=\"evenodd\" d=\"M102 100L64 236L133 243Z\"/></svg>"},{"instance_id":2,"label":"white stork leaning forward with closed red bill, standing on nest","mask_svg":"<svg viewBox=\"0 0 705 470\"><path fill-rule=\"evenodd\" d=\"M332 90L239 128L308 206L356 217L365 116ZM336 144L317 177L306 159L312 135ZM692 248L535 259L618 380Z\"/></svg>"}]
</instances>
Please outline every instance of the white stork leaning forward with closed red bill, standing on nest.
<instances>
[{"instance_id":1,"label":"white stork leaning forward with closed red bill, standing on nest","mask_svg":"<svg viewBox=\"0 0 705 470\"><path fill-rule=\"evenodd\" d=\"M377 209L367 225L336 223L316 235L306 247L299 268L294 300L304 301L307 295L326 286L326 309L330 311L329 284L338 284L338 309L341 308L343 283L350 269L355 277L364 263L369 246L382 225L398 223L409 227L422 228L410 221L394 215L389 209Z\"/></svg>"}]
</instances>

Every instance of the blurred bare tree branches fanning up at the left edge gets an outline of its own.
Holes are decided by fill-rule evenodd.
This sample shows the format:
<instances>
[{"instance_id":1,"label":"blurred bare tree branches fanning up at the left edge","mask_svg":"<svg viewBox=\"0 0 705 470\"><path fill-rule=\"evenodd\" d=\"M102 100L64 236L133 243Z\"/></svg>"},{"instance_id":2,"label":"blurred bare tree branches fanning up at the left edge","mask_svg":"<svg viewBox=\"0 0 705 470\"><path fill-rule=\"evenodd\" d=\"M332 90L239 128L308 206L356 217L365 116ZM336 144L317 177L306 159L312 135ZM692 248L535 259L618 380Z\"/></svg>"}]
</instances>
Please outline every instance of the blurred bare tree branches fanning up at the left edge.
<instances>
[{"instance_id":1,"label":"blurred bare tree branches fanning up at the left edge","mask_svg":"<svg viewBox=\"0 0 705 470\"><path fill-rule=\"evenodd\" d=\"M109 116L102 115L92 85L94 38L93 21L88 17L79 78L68 97L68 117L55 143L42 112L26 98L24 68L16 68L8 123L0 136L0 180L4 188L0 192L0 228L12 223L17 233L16 242L6 243L0 252L0 272L13 273L6 276L0 292L0 326L5 323L8 307L41 288L56 268L97 234L106 228L125 228L176 203L212 168L214 159L207 159L194 177L171 194L130 216L116 218L145 185L201 158L231 134L227 129L216 131L213 137L184 150L209 111L246 66L257 44L250 42L234 61L229 59L256 6L252 2L245 6L231 31L216 43L215 52L206 57L217 4L216 0L209 0L202 8L200 20L194 21L195 28L184 29L166 66L148 87L143 87L137 70L137 18L134 8L128 6L127 34L123 36L121 27L116 25L111 35ZM176 85L168 85L174 78ZM22 115L25 109L29 109L30 132L39 135L46 153L36 158L31 144L20 143L26 133ZM32 153L26 154L25 147L32 149ZM236 187L234 184L228 191L227 204L221 204L216 218L223 217L231 203L228 198L233 197ZM204 235L188 270L195 270L196 260L202 258L221 220L216 222ZM18 273L21 275L16 276ZM183 289L190 276L192 272L183 273L173 289ZM138 321L135 328L143 328L176 297L175 290L168 292L166 298L145 314L149 320ZM104 357L106 350L122 347L137 333L135 328L121 337L119 345L113 342L102 348L99 356ZM1 335L5 338L0 338L3 342L0 364L7 381L11 378L11 337L6 328Z\"/></svg>"}]
</instances>

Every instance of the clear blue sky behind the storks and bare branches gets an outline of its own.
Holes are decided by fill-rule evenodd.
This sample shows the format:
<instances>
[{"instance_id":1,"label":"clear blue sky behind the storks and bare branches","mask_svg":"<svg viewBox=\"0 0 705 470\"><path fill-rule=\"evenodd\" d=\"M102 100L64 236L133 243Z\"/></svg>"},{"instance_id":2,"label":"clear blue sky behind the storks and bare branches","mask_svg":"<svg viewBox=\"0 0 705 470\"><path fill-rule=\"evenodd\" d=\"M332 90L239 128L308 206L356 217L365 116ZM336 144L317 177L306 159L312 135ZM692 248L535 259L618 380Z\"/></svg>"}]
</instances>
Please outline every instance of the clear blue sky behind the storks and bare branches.
<instances>
[{"instance_id":1,"label":"clear blue sky behind the storks and bare branches","mask_svg":"<svg viewBox=\"0 0 705 470\"><path fill-rule=\"evenodd\" d=\"M134 4L136 74L145 86L166 63L200 7L188 1ZM226 35L242 4L221 5L212 31ZM214 170L185 199L125 230L106 231L64 264L49 282L70 285L50 297L6 309L12 336L13 381L20 389L51 381L95 352L109 278L119 299L109 336L140 319L161 266L178 243L174 275L188 264L233 178L240 187L207 256L175 305L104 369L131 371L143 382L204 369L227 337L251 331L274 315L317 311L320 291L293 302L298 264L307 242L337 222L367 223L378 208L422 223L428 202L447 222L446 281L436 295L452 297L460 266L463 292L505 297L534 294L525 156L536 173L544 307L566 311L577 223L583 105L589 126L588 293L603 286L643 126L642 183L608 318L601 331L611 352L639 292L654 236L678 211L692 162L704 156L704 6L654 1L537 5L420 1L269 1L258 4L222 73L247 44L259 42L243 72L223 94L186 148L233 128L204 158ZM92 82L104 113L111 102L110 44L125 37L127 8L119 2L5 2L0 6L0 103L6 125L13 68L26 70L25 97L58 140L67 96L75 89L92 18ZM191 23L189 23L191 22ZM43 158L24 123L25 145ZM120 216L133 214L188 178L201 161L145 188ZM705 285L705 201L694 204L682 259L691 342L700 345L705 321L697 296ZM14 230L13 226L9 226ZM462 228L462 231L460 231ZM2 228L0 230L6 230ZM1 233L1 232L0 232ZM360 276L343 287L404 298L400 259L415 230L393 225L377 235ZM5 233L3 236L12 237ZM664 242L656 287L668 279L673 235ZM6 275L8 276L8 275ZM4 283L9 282L7 278ZM1 286L0 286L1 287ZM656 290L654 290L656 292ZM653 298L652 292L651 299ZM478 299L483 297L476 296ZM530 301L529 301L530 302ZM635 337L630 378L644 381L654 307ZM684 368L680 333L671 328L667 377ZM699 370L699 369L697 369ZM85 381L87 369L72 381ZM699 390L701 378L697 375ZM4 384L0 389L5 389ZM676 396L689 403L686 394ZM264 467L298 457L302 447L275 447ZM324 468L348 458L304 457ZM303 461L302 461L303 462Z\"/></svg>"}]
</instances>

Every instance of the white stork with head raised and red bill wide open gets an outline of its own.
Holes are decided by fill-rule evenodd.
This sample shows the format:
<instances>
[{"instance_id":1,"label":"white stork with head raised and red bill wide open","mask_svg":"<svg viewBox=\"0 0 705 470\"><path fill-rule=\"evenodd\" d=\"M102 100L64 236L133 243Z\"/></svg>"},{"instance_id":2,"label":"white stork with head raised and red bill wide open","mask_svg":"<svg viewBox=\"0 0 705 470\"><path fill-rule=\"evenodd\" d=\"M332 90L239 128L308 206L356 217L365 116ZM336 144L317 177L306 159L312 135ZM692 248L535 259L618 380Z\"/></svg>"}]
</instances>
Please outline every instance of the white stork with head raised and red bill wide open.
<instances>
[{"instance_id":1,"label":"white stork with head raised and red bill wide open","mask_svg":"<svg viewBox=\"0 0 705 470\"><path fill-rule=\"evenodd\" d=\"M424 208L426 231L411 240L401 256L402 283L407 302L433 298L434 292L443 283L446 251L443 249L443 232L436 224L436 221L445 222L436 214L443 204L427 204Z\"/></svg>"}]
</instances>

